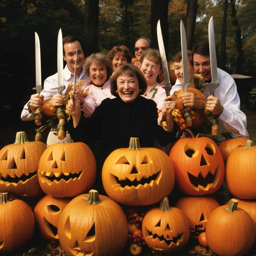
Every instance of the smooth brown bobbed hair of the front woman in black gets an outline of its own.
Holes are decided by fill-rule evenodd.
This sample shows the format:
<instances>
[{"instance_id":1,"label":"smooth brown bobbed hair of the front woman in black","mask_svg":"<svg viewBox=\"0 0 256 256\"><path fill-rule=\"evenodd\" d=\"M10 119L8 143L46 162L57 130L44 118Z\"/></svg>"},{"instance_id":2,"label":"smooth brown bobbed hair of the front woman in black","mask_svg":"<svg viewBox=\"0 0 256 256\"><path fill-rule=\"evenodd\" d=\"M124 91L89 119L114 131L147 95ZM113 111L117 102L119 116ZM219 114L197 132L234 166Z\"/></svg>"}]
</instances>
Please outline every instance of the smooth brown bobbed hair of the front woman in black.
<instances>
[{"instance_id":1,"label":"smooth brown bobbed hair of the front woman in black","mask_svg":"<svg viewBox=\"0 0 256 256\"><path fill-rule=\"evenodd\" d=\"M137 77L138 82L139 82L139 89L141 90L139 92L139 95L142 95L145 93L147 89L147 80L142 74L141 70L136 67L135 65L131 63L127 63L119 67L113 74L110 82L110 92L112 95L115 97L118 96L118 93L116 93L117 90L117 79L118 77L122 76L123 74L126 74L130 77Z\"/></svg>"}]
</instances>

